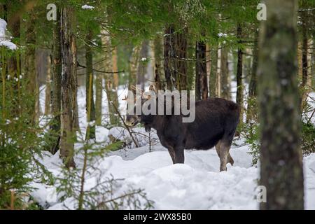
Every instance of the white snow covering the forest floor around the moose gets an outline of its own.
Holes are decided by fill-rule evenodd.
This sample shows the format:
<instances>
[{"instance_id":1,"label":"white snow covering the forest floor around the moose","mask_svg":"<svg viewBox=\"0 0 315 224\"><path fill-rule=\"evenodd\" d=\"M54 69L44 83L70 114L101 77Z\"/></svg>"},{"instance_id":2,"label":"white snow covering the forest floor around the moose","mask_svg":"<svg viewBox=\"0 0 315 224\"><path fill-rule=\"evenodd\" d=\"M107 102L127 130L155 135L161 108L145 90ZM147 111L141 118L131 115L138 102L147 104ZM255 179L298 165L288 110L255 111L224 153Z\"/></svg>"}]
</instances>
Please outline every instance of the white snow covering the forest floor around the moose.
<instances>
[{"instance_id":1,"label":"white snow covering the forest floor around the moose","mask_svg":"<svg viewBox=\"0 0 315 224\"><path fill-rule=\"evenodd\" d=\"M44 92L41 91L41 99L45 99ZM86 128L84 92L85 89L80 87L78 105L83 132ZM123 97L122 91L118 93L120 98ZM107 113L106 96L103 106L103 113ZM123 106L120 105L121 108ZM97 127L97 141L108 141L109 134L118 137L119 130ZM138 130L144 132L141 128ZM126 134L121 135L125 137ZM153 134L152 138L156 136ZM228 165L227 172L219 172L219 158L214 149L185 151L185 164L172 165L167 149L157 141L151 152L148 145L110 152L94 165L101 171L101 174L97 172L95 175L101 175L102 179L111 175L115 179L123 179L118 194L129 187L144 189L148 199L154 202L154 209L258 209L255 195L259 165L252 166L249 146L241 139L237 139L235 145L230 151L235 165ZM78 160L80 156L76 158L77 166L82 166ZM54 176L59 175L62 161L58 153L47 153L42 162ZM303 162L305 207L315 209L315 154L304 157ZM92 187L94 182L95 177L90 174L86 179L86 189ZM33 186L38 189L31 195L45 209L74 209L73 199L67 198L61 202L54 186L41 183L34 183Z\"/></svg>"}]
</instances>

